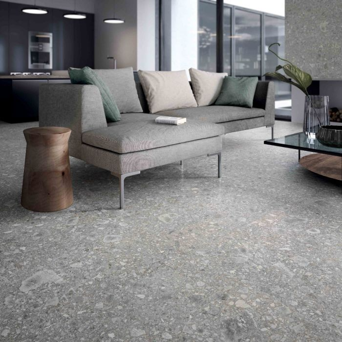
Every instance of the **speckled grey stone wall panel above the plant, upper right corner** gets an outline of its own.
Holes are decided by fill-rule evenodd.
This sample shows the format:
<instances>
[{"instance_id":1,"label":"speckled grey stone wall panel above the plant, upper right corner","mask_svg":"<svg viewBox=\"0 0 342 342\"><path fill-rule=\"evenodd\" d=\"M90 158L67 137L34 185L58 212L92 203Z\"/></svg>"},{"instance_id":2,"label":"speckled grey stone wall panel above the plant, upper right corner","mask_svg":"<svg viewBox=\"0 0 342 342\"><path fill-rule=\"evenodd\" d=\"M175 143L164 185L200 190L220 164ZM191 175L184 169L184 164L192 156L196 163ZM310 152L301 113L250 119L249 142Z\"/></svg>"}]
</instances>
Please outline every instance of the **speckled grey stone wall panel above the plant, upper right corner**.
<instances>
[{"instance_id":1,"label":"speckled grey stone wall panel above the plant, upper right corner","mask_svg":"<svg viewBox=\"0 0 342 342\"><path fill-rule=\"evenodd\" d=\"M287 59L314 79L342 79L342 0L285 0Z\"/></svg>"}]
</instances>

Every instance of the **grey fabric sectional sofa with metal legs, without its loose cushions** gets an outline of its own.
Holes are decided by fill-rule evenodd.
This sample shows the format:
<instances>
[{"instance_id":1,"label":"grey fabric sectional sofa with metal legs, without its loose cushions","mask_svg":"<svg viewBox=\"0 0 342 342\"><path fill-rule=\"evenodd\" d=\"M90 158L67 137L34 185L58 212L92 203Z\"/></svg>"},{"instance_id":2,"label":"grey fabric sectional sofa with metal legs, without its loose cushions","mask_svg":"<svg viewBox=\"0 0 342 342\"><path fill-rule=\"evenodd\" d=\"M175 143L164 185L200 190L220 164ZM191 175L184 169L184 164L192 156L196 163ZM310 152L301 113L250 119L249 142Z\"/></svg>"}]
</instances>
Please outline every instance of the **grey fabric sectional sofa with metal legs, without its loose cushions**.
<instances>
[{"instance_id":1,"label":"grey fabric sectional sofa with metal legs, without its loose cushions","mask_svg":"<svg viewBox=\"0 0 342 342\"><path fill-rule=\"evenodd\" d=\"M110 88L111 85L107 84ZM119 178L120 209L124 180L142 170L199 155L217 155L221 176L222 135L274 124L274 84L259 82L253 108L209 106L149 114L143 89L136 83L143 113L123 113L107 123L95 85L42 85L40 126L71 128L69 154ZM160 125L159 115L187 117L184 125ZM218 124L217 124L218 123Z\"/></svg>"}]
</instances>

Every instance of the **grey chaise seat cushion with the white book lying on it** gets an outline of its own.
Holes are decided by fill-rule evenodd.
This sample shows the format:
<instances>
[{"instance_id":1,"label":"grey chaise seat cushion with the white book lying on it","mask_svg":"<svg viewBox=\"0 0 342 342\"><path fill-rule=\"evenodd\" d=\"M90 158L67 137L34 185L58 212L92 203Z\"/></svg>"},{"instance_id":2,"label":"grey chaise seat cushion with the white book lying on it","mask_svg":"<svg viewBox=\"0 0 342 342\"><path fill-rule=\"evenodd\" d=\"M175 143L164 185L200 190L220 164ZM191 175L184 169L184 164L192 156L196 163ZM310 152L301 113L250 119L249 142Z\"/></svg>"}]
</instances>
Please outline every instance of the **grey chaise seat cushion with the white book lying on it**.
<instances>
[{"instance_id":1,"label":"grey chaise seat cushion with the white book lying on it","mask_svg":"<svg viewBox=\"0 0 342 342\"><path fill-rule=\"evenodd\" d=\"M121 121L109 123L107 128L87 131L82 142L116 153L150 150L188 141L224 134L224 128L210 122L188 120L182 125L155 123L159 115L126 113Z\"/></svg>"}]
</instances>

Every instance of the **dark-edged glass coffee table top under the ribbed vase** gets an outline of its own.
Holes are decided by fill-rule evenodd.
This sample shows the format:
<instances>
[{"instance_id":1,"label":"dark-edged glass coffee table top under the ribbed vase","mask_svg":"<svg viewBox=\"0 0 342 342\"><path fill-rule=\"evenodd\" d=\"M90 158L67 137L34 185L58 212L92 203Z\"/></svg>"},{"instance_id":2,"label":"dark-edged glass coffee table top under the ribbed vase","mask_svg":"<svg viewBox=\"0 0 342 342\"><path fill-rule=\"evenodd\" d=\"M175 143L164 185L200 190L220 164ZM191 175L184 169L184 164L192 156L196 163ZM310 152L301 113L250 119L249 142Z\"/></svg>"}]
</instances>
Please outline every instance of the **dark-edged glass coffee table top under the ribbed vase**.
<instances>
[{"instance_id":1,"label":"dark-edged glass coffee table top under the ribbed vase","mask_svg":"<svg viewBox=\"0 0 342 342\"><path fill-rule=\"evenodd\" d=\"M266 145L287 147L289 149L318 152L342 157L342 149L322 145L317 139L308 138L304 132L285 135L264 141Z\"/></svg>"}]
</instances>

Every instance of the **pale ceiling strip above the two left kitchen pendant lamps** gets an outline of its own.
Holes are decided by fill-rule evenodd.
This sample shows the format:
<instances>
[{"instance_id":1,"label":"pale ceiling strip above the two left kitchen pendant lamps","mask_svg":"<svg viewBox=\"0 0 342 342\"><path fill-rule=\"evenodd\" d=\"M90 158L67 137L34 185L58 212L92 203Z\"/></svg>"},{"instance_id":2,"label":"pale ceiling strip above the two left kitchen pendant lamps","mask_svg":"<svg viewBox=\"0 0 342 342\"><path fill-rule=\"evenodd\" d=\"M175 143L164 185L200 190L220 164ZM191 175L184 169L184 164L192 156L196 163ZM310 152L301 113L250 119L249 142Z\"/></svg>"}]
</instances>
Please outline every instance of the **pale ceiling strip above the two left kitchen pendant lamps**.
<instances>
[{"instance_id":1,"label":"pale ceiling strip above the two left kitchen pendant lamps","mask_svg":"<svg viewBox=\"0 0 342 342\"><path fill-rule=\"evenodd\" d=\"M5 0L7 2L23 3L32 6L34 0ZM95 0L76 0L76 10L86 13L94 13ZM38 7L50 7L65 10L74 10L73 0L36 0Z\"/></svg>"}]
</instances>

